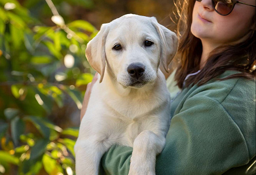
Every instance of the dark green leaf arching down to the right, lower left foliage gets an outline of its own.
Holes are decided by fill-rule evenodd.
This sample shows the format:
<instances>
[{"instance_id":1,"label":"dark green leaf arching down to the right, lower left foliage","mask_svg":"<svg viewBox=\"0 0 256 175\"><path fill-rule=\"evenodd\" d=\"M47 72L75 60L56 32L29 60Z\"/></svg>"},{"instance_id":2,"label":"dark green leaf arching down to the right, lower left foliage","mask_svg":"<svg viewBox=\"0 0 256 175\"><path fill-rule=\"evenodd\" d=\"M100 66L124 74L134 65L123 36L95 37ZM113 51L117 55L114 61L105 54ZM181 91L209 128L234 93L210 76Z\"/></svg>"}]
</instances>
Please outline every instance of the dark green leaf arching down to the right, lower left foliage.
<instances>
[{"instance_id":1,"label":"dark green leaf arching down to the right, lower left foliage","mask_svg":"<svg viewBox=\"0 0 256 175\"><path fill-rule=\"evenodd\" d=\"M50 129L44 124L41 118L36 116L25 116L23 119L32 122L44 138L50 137Z\"/></svg>"}]
</instances>

